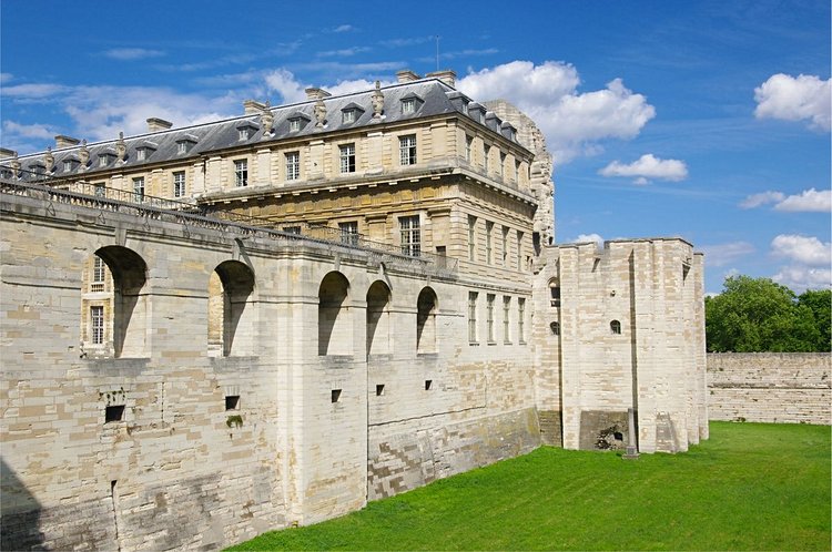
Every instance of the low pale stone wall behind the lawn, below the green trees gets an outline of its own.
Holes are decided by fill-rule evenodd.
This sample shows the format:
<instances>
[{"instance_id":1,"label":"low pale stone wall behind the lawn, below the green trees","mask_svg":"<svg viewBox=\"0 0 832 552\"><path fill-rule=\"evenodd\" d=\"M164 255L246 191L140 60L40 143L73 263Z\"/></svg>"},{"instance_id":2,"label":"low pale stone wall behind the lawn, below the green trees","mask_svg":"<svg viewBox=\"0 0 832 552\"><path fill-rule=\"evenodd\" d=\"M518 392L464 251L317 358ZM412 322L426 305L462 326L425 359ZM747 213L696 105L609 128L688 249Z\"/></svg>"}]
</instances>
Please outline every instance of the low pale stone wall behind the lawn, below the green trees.
<instances>
[{"instance_id":1,"label":"low pale stone wall behind the lawn, below the green trees","mask_svg":"<svg viewBox=\"0 0 832 552\"><path fill-rule=\"evenodd\" d=\"M711 420L832 423L829 352L708 355Z\"/></svg>"}]
</instances>

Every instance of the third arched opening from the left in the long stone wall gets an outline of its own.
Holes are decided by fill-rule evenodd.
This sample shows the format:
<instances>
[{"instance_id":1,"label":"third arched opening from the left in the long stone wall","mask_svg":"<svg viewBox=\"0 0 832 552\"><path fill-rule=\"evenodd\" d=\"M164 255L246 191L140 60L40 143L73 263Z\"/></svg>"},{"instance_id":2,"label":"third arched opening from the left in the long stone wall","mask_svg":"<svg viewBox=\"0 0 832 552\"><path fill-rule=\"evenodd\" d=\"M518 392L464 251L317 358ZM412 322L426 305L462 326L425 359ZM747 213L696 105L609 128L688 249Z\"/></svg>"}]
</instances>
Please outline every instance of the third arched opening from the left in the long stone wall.
<instances>
[{"instance_id":1,"label":"third arched opening from the left in the long stone wall","mask_svg":"<svg viewBox=\"0 0 832 552\"><path fill-rule=\"evenodd\" d=\"M349 280L331 272L321 280L317 306L317 354L352 355L353 328L349 317Z\"/></svg>"}]
</instances>

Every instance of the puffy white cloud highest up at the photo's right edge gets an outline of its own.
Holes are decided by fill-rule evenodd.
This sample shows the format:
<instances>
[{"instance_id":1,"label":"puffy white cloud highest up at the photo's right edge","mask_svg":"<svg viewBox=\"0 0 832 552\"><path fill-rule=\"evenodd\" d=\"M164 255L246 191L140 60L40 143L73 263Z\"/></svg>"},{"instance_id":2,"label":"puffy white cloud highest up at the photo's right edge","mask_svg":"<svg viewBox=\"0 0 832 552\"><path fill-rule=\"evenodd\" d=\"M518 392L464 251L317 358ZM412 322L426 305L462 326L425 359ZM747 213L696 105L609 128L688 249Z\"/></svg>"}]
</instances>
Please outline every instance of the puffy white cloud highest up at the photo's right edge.
<instances>
[{"instance_id":1,"label":"puffy white cloud highest up at the photo's right edge","mask_svg":"<svg viewBox=\"0 0 832 552\"><path fill-rule=\"evenodd\" d=\"M830 130L832 120L832 79L822 81L815 75L797 78L778 73L754 89L758 119L811 121L810 126Z\"/></svg>"}]
</instances>

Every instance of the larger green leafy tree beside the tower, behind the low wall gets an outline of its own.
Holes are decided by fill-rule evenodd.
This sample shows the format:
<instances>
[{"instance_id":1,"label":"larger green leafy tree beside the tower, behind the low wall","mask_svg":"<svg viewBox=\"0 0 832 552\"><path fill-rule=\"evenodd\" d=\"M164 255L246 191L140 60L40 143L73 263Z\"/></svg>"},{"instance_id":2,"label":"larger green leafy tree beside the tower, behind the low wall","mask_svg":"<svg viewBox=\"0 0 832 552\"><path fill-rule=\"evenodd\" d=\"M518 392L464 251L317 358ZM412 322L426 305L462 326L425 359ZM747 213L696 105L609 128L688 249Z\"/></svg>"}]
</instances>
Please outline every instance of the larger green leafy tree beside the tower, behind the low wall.
<instances>
[{"instance_id":1,"label":"larger green leafy tree beside the tower, behind the low wall","mask_svg":"<svg viewBox=\"0 0 832 552\"><path fill-rule=\"evenodd\" d=\"M814 351L821 343L813 309L769 278L726 278L704 309L711 352Z\"/></svg>"}]
</instances>

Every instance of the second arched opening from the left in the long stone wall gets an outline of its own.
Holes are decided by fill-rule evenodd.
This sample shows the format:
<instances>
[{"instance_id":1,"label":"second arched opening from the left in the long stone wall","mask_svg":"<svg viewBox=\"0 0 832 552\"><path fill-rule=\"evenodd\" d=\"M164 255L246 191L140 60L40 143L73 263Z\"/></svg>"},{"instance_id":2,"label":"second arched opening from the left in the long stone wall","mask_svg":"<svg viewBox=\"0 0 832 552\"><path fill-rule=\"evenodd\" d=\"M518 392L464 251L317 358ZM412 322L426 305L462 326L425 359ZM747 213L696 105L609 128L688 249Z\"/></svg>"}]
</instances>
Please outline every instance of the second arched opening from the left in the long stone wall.
<instances>
[{"instance_id":1,"label":"second arched opening from the left in the long stone wall","mask_svg":"<svg viewBox=\"0 0 832 552\"><path fill-rule=\"evenodd\" d=\"M241 356L254 351L254 274L239 260L225 260L209 278L209 355Z\"/></svg>"}]
</instances>

